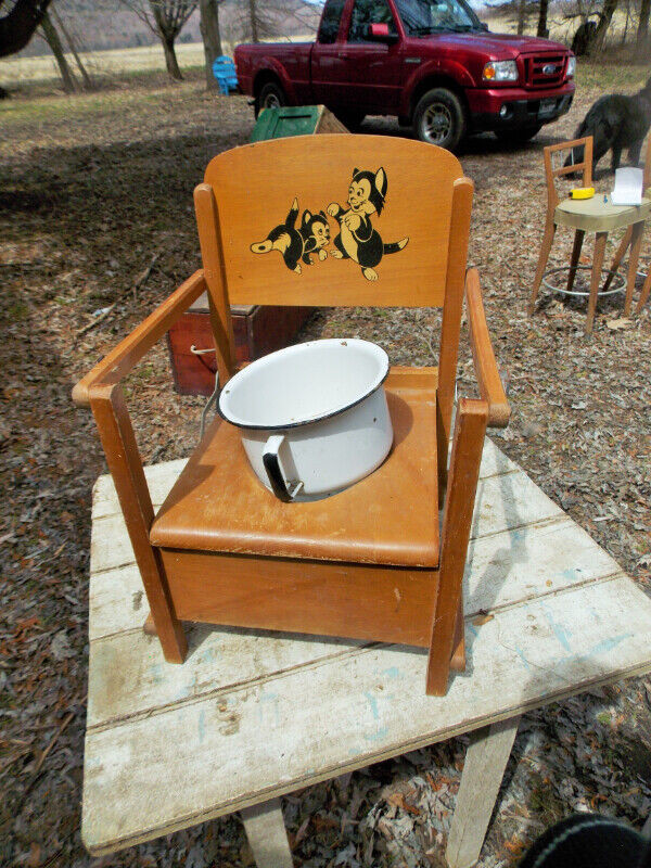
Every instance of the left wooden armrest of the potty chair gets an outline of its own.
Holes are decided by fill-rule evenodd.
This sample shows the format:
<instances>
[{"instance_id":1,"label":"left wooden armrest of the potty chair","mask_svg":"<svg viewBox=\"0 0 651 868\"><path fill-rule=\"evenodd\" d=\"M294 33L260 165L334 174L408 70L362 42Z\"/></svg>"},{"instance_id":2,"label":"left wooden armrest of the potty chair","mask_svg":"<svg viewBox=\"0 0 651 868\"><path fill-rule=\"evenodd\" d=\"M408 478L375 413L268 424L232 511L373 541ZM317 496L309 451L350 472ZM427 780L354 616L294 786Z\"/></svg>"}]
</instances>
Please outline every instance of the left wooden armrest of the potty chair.
<instances>
[{"instance_id":1,"label":"left wooden armrest of the potty chair","mask_svg":"<svg viewBox=\"0 0 651 868\"><path fill-rule=\"evenodd\" d=\"M90 407L92 386L118 383L206 289L204 272L200 269L77 383L73 388L75 404Z\"/></svg>"}]
</instances>

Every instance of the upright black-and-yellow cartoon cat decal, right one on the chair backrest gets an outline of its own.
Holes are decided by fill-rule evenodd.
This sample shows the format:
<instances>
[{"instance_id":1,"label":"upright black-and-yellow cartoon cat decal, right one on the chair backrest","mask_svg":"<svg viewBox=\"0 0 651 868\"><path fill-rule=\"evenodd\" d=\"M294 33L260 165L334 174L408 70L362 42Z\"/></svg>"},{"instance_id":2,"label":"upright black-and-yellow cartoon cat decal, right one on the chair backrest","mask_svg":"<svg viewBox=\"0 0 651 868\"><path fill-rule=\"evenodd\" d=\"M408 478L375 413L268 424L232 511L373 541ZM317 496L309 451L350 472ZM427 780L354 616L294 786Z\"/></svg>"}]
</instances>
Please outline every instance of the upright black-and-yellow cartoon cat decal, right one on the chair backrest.
<instances>
[{"instance_id":1,"label":"upright black-and-yellow cartoon cat decal, right one on the chair backrest","mask_svg":"<svg viewBox=\"0 0 651 868\"><path fill-rule=\"evenodd\" d=\"M367 280L378 280L375 266L384 254L401 251L409 241L403 238L392 244L384 244L380 233L373 229L371 215L382 214L386 199L386 173L382 167L378 171L353 169L353 178L348 187L348 208L342 208L336 202L328 205L328 214L340 225L340 234L334 239L336 250L330 255L335 259L353 259L361 266L361 273Z\"/></svg>"}]
</instances>

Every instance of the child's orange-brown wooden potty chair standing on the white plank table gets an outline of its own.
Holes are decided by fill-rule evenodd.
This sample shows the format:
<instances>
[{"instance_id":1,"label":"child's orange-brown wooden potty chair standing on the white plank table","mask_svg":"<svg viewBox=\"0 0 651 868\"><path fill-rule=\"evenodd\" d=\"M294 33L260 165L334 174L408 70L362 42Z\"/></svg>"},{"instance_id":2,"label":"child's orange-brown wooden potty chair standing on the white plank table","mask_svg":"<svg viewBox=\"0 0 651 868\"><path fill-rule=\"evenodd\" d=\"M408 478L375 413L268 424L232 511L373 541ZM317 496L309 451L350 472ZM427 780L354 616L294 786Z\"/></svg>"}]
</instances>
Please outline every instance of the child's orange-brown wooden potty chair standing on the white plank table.
<instances>
[{"instance_id":1,"label":"child's orange-brown wooden potty chair standing on the white plank table","mask_svg":"<svg viewBox=\"0 0 651 868\"><path fill-rule=\"evenodd\" d=\"M341 217L357 169L384 239L376 280L354 258L296 273L278 251L252 252L295 199L302 213L333 204ZM203 269L74 391L94 413L167 661L183 661L181 622L193 621L425 648L434 694L450 665L464 666L461 580L484 433L509 418L478 278L465 275L472 192L452 154L386 137L267 141L208 165L195 190ZM222 386L235 370L231 304L443 307L438 368L393 368L385 383L395 439L381 468L326 500L283 503L217 418L154 516L119 381L206 289ZM464 294L481 399L458 404L448 468Z\"/></svg>"}]
</instances>

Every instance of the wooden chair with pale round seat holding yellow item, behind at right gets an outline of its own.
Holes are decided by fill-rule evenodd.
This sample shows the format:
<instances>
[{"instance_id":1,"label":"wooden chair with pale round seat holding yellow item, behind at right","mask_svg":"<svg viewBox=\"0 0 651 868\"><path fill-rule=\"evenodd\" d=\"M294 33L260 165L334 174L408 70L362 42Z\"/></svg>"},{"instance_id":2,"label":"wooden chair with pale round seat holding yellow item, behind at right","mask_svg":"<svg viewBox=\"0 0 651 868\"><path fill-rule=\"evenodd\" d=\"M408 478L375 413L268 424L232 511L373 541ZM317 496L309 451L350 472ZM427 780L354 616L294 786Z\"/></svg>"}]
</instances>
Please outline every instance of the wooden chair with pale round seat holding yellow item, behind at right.
<instances>
[{"instance_id":1,"label":"wooden chair with pale round seat holding yellow item, behind at right","mask_svg":"<svg viewBox=\"0 0 651 868\"><path fill-rule=\"evenodd\" d=\"M583 146L584 158L582 163L575 163L570 166L563 165L563 157L567 152L574 152L574 149ZM560 157L560 164L554 166L554 158ZM648 161L647 161L648 162ZM627 229L630 232L630 239L627 247L630 247L628 257L628 277L626 281L626 299L624 303L624 314L630 314L630 306L633 302L633 291L635 289L635 279L637 273L637 266L640 255L640 245L642 241L642 233L644 229L644 221L651 215L651 201L642 200L642 205L633 207L628 205L612 205L610 202L603 201L603 194L597 193L592 199L573 200L565 199L561 201L557 187L556 179L560 176L571 175L574 173L582 173L582 186L592 186L592 137L585 139L575 139L570 142L561 142L560 144L552 144L545 149L545 175L547 179L547 217L545 222L545 233L540 245L540 255L538 257L538 266L536 268L536 277L534 278L534 285L528 304L529 316L534 312L536 297L540 289L540 282L545 275L547 261L549 259L549 252L556 234L558 226L569 226L575 229L574 246L572 248L572 257L570 260L570 270L567 275L567 283L565 292L572 292L574 280L576 277L576 269L578 267L578 259L583 247L583 242L586 232L595 232L595 253L592 256L592 268L590 277L590 295L588 299L588 316L586 321L586 332L589 334L592 331L595 322L595 312L597 310L597 299L599 296L599 281L601 278L601 269L603 267L603 257L605 254L605 242L608 233L615 229ZM622 253L622 256L624 253ZM608 291L610 280L601 290ZM643 295L643 294L642 294ZM643 304L643 302L642 302ZM639 309L639 306L638 306Z\"/></svg>"}]
</instances>

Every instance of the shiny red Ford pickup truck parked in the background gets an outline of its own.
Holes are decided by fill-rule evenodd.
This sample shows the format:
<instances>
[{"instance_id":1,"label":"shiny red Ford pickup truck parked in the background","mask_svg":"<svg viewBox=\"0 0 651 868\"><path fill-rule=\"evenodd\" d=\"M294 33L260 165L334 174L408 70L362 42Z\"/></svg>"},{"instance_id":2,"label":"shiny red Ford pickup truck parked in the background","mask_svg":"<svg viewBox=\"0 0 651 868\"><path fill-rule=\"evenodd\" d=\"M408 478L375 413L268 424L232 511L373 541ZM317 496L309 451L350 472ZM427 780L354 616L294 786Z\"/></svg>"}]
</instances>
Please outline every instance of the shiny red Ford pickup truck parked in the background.
<instances>
[{"instance_id":1,"label":"shiny red Ford pickup truck parked in the background","mask_svg":"<svg viewBox=\"0 0 651 868\"><path fill-rule=\"evenodd\" d=\"M327 0L316 42L238 46L255 112L323 103L349 128L396 115L449 150L493 130L526 141L564 114L575 58L565 46L492 34L465 0Z\"/></svg>"}]
</instances>

